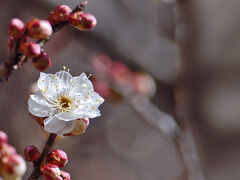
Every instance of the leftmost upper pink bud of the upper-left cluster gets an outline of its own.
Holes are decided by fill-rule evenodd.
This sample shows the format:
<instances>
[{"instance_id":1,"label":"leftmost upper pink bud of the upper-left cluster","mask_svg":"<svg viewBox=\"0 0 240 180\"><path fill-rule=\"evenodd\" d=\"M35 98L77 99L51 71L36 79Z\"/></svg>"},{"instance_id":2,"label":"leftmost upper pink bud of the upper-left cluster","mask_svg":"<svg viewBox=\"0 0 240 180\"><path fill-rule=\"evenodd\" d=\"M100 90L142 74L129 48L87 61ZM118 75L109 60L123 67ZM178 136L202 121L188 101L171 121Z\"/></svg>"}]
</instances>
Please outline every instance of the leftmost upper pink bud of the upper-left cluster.
<instances>
[{"instance_id":1,"label":"leftmost upper pink bud of the upper-left cluster","mask_svg":"<svg viewBox=\"0 0 240 180\"><path fill-rule=\"evenodd\" d=\"M24 23L18 18L12 19L9 23L8 34L14 38L21 38L24 34Z\"/></svg>"}]
</instances>

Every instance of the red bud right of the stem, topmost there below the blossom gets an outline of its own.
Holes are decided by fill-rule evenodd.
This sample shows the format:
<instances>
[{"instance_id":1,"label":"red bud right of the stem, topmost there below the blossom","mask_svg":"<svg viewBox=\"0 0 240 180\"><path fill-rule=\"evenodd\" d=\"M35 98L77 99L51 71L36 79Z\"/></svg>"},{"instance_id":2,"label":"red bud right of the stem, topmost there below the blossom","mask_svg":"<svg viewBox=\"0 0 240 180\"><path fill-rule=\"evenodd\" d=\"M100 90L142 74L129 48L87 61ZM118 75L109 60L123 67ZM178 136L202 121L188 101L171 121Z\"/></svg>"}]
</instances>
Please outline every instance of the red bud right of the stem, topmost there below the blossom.
<instances>
[{"instance_id":1,"label":"red bud right of the stem, topmost there below the blossom","mask_svg":"<svg viewBox=\"0 0 240 180\"><path fill-rule=\"evenodd\" d=\"M55 164L59 168L62 168L65 164L67 164L68 157L64 151L55 149L48 154L46 162L49 164Z\"/></svg>"}]
</instances>

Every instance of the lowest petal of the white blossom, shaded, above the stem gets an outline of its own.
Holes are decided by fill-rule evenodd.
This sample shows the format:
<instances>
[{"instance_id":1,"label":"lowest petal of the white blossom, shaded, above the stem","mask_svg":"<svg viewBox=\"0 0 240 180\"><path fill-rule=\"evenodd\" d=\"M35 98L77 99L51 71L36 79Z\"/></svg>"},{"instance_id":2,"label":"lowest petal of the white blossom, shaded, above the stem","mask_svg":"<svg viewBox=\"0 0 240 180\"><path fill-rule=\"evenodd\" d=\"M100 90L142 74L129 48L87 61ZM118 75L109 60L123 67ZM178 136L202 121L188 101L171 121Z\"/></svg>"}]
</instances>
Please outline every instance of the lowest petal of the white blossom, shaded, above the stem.
<instances>
[{"instance_id":1,"label":"lowest petal of the white blossom, shaded, above the stem","mask_svg":"<svg viewBox=\"0 0 240 180\"><path fill-rule=\"evenodd\" d=\"M56 116L50 116L44 120L44 129L50 133L55 134L68 134L70 133L76 121L63 121Z\"/></svg>"}]
</instances>

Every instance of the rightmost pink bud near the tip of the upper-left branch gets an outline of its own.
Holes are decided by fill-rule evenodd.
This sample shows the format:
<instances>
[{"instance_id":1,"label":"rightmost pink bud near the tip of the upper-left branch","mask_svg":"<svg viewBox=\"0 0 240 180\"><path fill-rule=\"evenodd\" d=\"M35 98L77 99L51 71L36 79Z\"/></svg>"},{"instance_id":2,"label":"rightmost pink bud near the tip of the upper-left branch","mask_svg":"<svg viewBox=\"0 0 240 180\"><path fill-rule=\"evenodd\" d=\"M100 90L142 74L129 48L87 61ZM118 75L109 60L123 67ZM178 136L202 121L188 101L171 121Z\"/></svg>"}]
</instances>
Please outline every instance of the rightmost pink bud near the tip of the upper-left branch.
<instances>
[{"instance_id":1,"label":"rightmost pink bud near the tip of the upper-left branch","mask_svg":"<svg viewBox=\"0 0 240 180\"><path fill-rule=\"evenodd\" d=\"M90 30L97 24L95 16L80 11L71 14L69 21L72 26L79 30Z\"/></svg>"}]
</instances>

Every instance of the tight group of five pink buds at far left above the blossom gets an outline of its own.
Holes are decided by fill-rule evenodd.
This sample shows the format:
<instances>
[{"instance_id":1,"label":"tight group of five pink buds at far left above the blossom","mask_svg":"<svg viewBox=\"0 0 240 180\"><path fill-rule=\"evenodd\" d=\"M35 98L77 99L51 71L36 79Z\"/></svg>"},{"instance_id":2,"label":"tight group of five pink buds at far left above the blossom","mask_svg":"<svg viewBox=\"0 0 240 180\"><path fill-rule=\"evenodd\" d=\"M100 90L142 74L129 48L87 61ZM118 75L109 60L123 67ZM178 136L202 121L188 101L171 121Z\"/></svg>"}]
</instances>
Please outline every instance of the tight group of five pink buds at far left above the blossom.
<instances>
[{"instance_id":1,"label":"tight group of five pink buds at far left above the blossom","mask_svg":"<svg viewBox=\"0 0 240 180\"><path fill-rule=\"evenodd\" d=\"M37 42L48 39L52 32L52 26L48 21L32 19L25 26L22 20L14 18L9 23L8 48L32 58L33 65L39 71L44 71L51 65L51 59L45 55Z\"/></svg>"}]
</instances>

